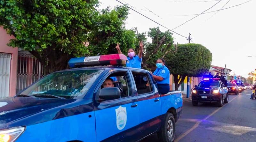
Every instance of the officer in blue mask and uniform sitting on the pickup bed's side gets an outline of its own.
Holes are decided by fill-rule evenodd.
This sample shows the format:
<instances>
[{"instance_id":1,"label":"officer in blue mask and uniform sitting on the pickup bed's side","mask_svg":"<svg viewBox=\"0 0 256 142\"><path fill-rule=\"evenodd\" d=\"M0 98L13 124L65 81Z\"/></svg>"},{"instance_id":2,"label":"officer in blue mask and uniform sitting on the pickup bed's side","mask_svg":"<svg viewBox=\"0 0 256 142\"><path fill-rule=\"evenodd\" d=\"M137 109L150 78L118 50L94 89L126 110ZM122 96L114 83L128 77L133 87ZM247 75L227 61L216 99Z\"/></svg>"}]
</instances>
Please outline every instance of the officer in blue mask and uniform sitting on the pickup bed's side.
<instances>
[{"instance_id":1,"label":"officer in blue mask and uniform sitting on the pickup bed's side","mask_svg":"<svg viewBox=\"0 0 256 142\"><path fill-rule=\"evenodd\" d=\"M153 78L156 80L159 93L166 94L170 91L170 71L164 65L163 58L157 59L156 67L156 71L153 73Z\"/></svg>"}]
</instances>

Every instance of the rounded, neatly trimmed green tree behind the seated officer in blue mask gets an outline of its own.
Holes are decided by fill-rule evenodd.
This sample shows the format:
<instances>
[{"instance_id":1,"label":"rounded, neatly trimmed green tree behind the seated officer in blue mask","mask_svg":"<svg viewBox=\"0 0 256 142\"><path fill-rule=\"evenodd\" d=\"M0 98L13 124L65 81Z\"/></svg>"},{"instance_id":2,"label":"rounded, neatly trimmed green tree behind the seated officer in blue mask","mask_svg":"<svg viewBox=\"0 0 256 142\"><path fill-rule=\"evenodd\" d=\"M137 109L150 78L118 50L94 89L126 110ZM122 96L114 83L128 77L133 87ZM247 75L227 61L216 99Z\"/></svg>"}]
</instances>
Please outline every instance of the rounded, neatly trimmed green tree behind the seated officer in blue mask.
<instances>
[{"instance_id":1,"label":"rounded, neatly trimmed green tree behind the seated officer in blue mask","mask_svg":"<svg viewBox=\"0 0 256 142\"><path fill-rule=\"evenodd\" d=\"M174 77L175 90L186 76L199 77L209 71L212 53L201 44L179 44L175 52L167 55L166 65Z\"/></svg>"}]
</instances>

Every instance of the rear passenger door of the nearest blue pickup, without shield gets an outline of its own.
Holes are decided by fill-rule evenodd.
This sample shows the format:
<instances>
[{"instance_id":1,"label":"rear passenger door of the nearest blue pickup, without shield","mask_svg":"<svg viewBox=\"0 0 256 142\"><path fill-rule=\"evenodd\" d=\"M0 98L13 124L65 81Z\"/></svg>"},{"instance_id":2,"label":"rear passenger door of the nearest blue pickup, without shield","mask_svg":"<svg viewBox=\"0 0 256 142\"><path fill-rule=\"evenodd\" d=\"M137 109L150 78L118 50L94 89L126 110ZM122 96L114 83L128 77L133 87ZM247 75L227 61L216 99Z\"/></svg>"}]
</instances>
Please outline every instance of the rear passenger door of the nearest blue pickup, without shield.
<instances>
[{"instance_id":1,"label":"rear passenger door of the nearest blue pickup, without shield","mask_svg":"<svg viewBox=\"0 0 256 142\"><path fill-rule=\"evenodd\" d=\"M140 125L142 135L147 136L155 131L161 123L161 98L148 72L131 70L138 93L140 108Z\"/></svg>"}]
</instances>

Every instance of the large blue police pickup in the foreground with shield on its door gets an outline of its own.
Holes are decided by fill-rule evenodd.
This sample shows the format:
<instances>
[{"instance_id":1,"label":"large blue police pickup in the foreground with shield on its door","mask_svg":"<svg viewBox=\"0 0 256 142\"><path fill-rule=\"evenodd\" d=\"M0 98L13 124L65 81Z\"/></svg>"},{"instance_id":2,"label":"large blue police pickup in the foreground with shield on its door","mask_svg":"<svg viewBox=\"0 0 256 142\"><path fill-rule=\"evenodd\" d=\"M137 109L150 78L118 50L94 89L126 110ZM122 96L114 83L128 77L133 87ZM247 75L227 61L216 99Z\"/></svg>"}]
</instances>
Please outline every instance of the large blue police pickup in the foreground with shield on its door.
<instances>
[{"instance_id":1,"label":"large blue police pickup in the foreground with shield on its door","mask_svg":"<svg viewBox=\"0 0 256 142\"><path fill-rule=\"evenodd\" d=\"M126 60L72 58L71 69L1 99L0 142L133 142L153 133L174 141L181 93L159 94L150 72L120 66Z\"/></svg>"}]
</instances>

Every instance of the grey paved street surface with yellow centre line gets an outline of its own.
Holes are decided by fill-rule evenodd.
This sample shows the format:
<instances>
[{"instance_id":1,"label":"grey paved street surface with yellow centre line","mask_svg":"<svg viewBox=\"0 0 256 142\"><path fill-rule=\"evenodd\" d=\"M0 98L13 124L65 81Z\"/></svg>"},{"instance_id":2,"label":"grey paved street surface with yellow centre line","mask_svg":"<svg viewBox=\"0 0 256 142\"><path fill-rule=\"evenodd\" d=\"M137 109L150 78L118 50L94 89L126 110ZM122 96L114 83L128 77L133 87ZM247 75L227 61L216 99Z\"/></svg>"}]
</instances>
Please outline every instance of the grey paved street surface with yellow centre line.
<instances>
[{"instance_id":1,"label":"grey paved street surface with yellow centre line","mask_svg":"<svg viewBox=\"0 0 256 142\"><path fill-rule=\"evenodd\" d=\"M175 142L256 142L256 100L251 90L229 94L223 107L184 102L182 117L176 123ZM158 142L154 134L142 142Z\"/></svg>"}]
</instances>

